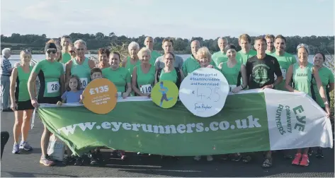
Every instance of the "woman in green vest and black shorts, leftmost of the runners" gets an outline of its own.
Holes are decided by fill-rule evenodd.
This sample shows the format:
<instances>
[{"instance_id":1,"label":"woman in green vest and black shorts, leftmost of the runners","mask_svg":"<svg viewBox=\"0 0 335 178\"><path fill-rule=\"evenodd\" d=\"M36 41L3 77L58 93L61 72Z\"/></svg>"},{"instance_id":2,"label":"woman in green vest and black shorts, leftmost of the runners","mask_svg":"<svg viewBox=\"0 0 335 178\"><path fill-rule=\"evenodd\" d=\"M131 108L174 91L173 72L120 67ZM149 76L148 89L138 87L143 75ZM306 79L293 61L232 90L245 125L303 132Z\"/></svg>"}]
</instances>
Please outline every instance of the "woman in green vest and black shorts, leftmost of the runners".
<instances>
[{"instance_id":1,"label":"woman in green vest and black shorts, leftmost of the runners","mask_svg":"<svg viewBox=\"0 0 335 178\"><path fill-rule=\"evenodd\" d=\"M30 66L31 52L28 50L21 51L20 59L21 65L15 67L11 73L11 109L15 114L12 151L14 154L20 153L20 149L33 150L27 141L30 118L34 109L28 93L28 78L33 70L33 66ZM20 135L21 142L19 144L18 137Z\"/></svg>"}]
</instances>

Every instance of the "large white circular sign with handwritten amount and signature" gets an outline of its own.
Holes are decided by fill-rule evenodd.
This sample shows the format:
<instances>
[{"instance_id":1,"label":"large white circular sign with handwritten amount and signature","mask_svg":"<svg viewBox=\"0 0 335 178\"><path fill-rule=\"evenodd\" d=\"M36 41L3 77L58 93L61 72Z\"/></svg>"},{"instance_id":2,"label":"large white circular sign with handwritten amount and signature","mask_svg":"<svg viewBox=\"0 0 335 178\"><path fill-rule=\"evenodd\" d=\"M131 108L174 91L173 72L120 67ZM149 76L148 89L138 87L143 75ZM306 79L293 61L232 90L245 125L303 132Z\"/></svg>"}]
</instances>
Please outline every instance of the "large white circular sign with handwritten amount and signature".
<instances>
[{"instance_id":1,"label":"large white circular sign with handwritten amount and signature","mask_svg":"<svg viewBox=\"0 0 335 178\"><path fill-rule=\"evenodd\" d=\"M217 69L200 68L181 82L179 98L183 105L198 117L211 117L225 105L229 85Z\"/></svg>"}]
</instances>

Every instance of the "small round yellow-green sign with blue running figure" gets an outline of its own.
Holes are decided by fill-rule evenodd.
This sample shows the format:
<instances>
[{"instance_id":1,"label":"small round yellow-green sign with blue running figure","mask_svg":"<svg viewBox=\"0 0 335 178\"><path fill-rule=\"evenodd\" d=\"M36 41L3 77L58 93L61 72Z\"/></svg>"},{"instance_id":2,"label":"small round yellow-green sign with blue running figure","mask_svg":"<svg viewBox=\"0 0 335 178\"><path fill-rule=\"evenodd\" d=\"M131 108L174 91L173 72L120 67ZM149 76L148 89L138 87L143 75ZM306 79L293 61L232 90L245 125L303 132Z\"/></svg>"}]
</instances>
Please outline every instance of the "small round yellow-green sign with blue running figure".
<instances>
[{"instance_id":1,"label":"small round yellow-green sign with blue running figure","mask_svg":"<svg viewBox=\"0 0 335 178\"><path fill-rule=\"evenodd\" d=\"M152 88L152 101L163 108L170 108L176 105L178 100L178 87L171 81L159 81Z\"/></svg>"}]
</instances>

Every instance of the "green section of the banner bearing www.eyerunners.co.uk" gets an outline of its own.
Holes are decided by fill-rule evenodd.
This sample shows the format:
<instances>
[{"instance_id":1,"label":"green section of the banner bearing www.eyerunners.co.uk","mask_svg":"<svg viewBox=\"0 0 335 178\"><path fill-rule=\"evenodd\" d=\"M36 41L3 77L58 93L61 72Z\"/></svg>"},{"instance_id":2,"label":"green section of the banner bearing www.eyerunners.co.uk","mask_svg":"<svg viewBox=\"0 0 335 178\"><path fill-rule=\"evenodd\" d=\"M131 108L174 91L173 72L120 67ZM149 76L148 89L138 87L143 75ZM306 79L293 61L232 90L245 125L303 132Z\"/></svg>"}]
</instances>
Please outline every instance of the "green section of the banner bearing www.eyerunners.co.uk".
<instances>
[{"instance_id":1,"label":"green section of the banner bearing www.eyerunners.co.uk","mask_svg":"<svg viewBox=\"0 0 335 178\"><path fill-rule=\"evenodd\" d=\"M157 155L215 155L270 150L264 93L228 95L213 117L196 117L181 102L118 102L108 114L83 106L40 107L40 118L75 153L106 146Z\"/></svg>"}]
</instances>

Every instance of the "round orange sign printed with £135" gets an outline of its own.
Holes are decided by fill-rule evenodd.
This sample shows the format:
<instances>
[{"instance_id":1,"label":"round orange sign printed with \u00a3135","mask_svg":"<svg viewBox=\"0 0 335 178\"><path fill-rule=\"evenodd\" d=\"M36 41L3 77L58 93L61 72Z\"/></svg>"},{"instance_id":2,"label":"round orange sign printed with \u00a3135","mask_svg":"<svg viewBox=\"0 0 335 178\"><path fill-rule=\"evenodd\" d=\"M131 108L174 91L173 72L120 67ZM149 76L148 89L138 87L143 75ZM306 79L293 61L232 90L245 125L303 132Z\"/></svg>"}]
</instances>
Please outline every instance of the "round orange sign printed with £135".
<instances>
[{"instance_id":1,"label":"round orange sign printed with \u00a3135","mask_svg":"<svg viewBox=\"0 0 335 178\"><path fill-rule=\"evenodd\" d=\"M93 80L83 92L84 106L96 114L107 114L114 109L117 98L114 83L106 78Z\"/></svg>"}]
</instances>

